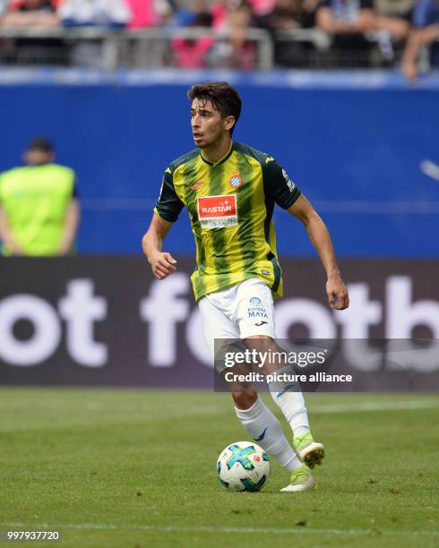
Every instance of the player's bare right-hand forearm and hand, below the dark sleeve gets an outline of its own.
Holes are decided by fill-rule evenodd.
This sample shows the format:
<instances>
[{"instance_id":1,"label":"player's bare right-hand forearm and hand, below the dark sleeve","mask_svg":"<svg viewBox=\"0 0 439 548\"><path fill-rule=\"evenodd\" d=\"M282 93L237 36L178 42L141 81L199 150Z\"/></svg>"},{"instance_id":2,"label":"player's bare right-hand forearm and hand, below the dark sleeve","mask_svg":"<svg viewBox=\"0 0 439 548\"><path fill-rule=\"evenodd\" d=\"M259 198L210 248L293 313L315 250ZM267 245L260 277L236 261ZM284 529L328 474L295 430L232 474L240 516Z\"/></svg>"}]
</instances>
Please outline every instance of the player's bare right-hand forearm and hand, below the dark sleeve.
<instances>
[{"instance_id":1,"label":"player's bare right-hand forearm and hand, below the dark sleeve","mask_svg":"<svg viewBox=\"0 0 439 548\"><path fill-rule=\"evenodd\" d=\"M288 212L298 218L306 228L309 239L314 245L323 263L328 281L326 282L326 293L328 294L331 308L344 310L349 306L348 289L340 276L340 270L337 266L335 253L331 242L331 236L323 223L322 218L306 197L301 194L296 203L294 203Z\"/></svg>"}]
</instances>

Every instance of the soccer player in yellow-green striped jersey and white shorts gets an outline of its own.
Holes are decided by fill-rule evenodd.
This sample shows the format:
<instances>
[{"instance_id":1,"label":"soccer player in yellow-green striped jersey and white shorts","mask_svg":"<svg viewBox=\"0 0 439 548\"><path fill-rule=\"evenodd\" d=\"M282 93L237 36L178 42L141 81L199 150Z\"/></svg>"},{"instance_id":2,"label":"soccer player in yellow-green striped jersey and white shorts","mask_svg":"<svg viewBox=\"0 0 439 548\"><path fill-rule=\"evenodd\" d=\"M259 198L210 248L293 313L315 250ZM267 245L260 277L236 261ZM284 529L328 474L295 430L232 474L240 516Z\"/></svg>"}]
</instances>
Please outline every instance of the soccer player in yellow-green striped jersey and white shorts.
<instances>
[{"instance_id":1,"label":"soccer player in yellow-green striped jersey and white shorts","mask_svg":"<svg viewBox=\"0 0 439 548\"><path fill-rule=\"evenodd\" d=\"M331 237L312 205L277 161L232 141L241 98L227 82L194 85L188 91L196 149L171 162L165 171L151 225L142 247L156 278L176 271L176 260L162 251L168 230L186 207L196 243L192 275L195 299L213 354L215 338L242 339L246 347L274 343L272 297L282 295L282 279L271 221L274 205L298 218L323 262L332 308L348 307L347 289ZM248 309L263 309L254 321ZM259 346L258 346L259 345ZM290 473L284 492L315 487L310 467L321 464L322 443L310 431L303 394L271 391L293 431L293 448L280 422L256 391L232 391L237 417L263 450Z\"/></svg>"}]
</instances>

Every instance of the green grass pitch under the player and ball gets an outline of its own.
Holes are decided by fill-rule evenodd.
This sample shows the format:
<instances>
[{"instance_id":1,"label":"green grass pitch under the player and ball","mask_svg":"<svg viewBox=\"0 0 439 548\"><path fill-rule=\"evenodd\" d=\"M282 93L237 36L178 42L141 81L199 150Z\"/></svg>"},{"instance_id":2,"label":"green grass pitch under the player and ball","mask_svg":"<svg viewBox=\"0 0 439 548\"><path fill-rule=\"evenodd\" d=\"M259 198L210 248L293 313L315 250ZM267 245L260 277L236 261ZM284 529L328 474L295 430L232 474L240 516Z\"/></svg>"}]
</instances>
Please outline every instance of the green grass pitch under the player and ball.
<instances>
[{"instance_id":1,"label":"green grass pitch under the player and ball","mask_svg":"<svg viewBox=\"0 0 439 548\"><path fill-rule=\"evenodd\" d=\"M215 471L249 439L228 394L3 388L0 529L60 529L80 548L438 546L437 396L307 403L327 449L317 490L280 493L271 460L263 492L235 493Z\"/></svg>"}]
</instances>

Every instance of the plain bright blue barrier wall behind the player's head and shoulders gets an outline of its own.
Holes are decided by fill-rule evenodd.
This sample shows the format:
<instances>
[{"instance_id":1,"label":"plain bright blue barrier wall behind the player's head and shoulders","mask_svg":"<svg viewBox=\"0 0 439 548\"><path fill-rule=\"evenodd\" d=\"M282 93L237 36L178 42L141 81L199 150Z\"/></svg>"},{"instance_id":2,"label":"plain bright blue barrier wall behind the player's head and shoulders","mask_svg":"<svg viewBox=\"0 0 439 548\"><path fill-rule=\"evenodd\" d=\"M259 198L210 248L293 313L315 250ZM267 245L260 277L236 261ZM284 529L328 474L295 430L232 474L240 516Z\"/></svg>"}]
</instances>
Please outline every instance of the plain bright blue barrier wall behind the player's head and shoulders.
<instances>
[{"instance_id":1,"label":"plain bright blue barrier wall behind the player's head and shoulders","mask_svg":"<svg viewBox=\"0 0 439 548\"><path fill-rule=\"evenodd\" d=\"M74 167L83 253L138 253L168 161L194 148L185 91L233 82L244 99L238 141L270 152L314 202L340 256L436 257L439 75L396 73L97 73L0 71L0 170L46 134ZM168 249L192 253L185 213ZM280 253L313 254L277 210Z\"/></svg>"}]
</instances>

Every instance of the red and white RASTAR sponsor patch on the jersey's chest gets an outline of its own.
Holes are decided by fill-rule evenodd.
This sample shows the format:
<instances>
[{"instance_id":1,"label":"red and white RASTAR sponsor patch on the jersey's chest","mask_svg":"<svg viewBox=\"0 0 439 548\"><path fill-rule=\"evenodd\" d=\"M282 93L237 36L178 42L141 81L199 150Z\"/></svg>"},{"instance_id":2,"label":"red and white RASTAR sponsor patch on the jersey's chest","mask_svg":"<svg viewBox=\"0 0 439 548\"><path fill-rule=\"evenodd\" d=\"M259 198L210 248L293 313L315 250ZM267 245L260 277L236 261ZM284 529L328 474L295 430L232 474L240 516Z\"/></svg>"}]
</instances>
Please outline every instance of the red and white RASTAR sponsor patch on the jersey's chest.
<instances>
[{"instance_id":1,"label":"red and white RASTAR sponsor patch on the jersey's chest","mask_svg":"<svg viewBox=\"0 0 439 548\"><path fill-rule=\"evenodd\" d=\"M201 196L198 202L198 218L202 228L226 228L237 226L237 195Z\"/></svg>"}]
</instances>

